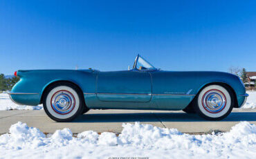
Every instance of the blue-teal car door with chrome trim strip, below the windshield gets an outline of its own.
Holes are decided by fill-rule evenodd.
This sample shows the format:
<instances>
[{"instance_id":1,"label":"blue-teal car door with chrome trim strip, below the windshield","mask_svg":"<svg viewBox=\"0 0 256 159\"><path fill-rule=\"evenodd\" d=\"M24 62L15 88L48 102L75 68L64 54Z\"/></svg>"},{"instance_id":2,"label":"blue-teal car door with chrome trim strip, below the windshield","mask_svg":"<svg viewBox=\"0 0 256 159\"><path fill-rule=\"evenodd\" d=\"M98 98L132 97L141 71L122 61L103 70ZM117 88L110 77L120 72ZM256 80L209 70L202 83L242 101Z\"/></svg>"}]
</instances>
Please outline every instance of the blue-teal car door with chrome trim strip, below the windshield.
<instances>
[{"instance_id":1,"label":"blue-teal car door with chrome trim strip, below the windshield","mask_svg":"<svg viewBox=\"0 0 256 159\"><path fill-rule=\"evenodd\" d=\"M105 102L149 102L152 77L147 71L99 72L96 95Z\"/></svg>"}]
</instances>

